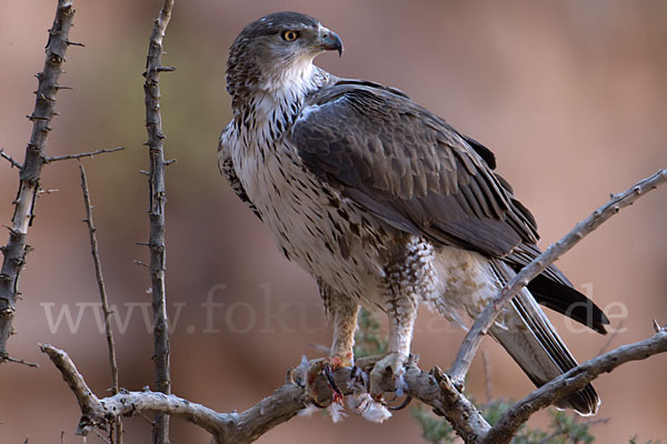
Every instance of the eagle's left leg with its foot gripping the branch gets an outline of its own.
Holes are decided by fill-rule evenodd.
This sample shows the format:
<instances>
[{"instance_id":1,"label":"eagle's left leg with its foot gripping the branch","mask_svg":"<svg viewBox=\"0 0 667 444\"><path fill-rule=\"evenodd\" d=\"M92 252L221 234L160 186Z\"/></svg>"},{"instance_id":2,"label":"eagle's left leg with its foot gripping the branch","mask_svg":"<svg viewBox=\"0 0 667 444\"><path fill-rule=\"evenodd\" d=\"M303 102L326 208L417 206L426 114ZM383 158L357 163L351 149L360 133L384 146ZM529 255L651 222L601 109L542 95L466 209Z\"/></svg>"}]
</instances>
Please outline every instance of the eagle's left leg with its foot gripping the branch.
<instances>
[{"instance_id":1,"label":"eagle's left leg with its foot gripping the branch","mask_svg":"<svg viewBox=\"0 0 667 444\"><path fill-rule=\"evenodd\" d=\"M341 392L336 386L331 372L355 364L355 330L357 329L359 304L356 300L334 291L321 282L320 293L325 302L325 309L334 320L334 343L331 344L329 357L316 360L310 364L306 391L310 397L315 398L315 380L323 372L329 380L331 390L335 392L334 400L336 401L337 395L341 396Z\"/></svg>"}]
</instances>

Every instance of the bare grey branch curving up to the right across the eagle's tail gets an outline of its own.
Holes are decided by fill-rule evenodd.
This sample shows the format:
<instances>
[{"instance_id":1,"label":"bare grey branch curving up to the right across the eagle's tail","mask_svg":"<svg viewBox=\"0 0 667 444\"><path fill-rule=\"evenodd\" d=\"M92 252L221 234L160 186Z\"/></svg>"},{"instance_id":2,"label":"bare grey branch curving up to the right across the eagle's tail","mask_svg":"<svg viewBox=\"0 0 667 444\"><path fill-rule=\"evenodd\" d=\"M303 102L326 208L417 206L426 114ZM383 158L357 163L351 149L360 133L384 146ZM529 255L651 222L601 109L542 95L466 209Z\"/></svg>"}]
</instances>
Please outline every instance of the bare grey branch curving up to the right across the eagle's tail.
<instances>
[{"instance_id":1,"label":"bare grey branch curving up to the right across the eagle's tail","mask_svg":"<svg viewBox=\"0 0 667 444\"><path fill-rule=\"evenodd\" d=\"M544 253L537 256L532 262L526 265L500 293L487 304L481 314L477 316L472 327L464 339L451 371L450 377L457 383L462 384L472 359L477 353L481 337L487 333L496 316L502 311L502 307L509 302L524 286L528 285L535 276L541 273L547 266L556 261L564 253L575 246L581 239L590 234L603 222L607 221L620 209L631 205L637 199L641 198L648 191L657 188L667 181L667 170L660 170L650 178L644 179L620 194L613 194L611 200L598 208L588 218L579 222L565 238L549 246Z\"/></svg>"}]
</instances>

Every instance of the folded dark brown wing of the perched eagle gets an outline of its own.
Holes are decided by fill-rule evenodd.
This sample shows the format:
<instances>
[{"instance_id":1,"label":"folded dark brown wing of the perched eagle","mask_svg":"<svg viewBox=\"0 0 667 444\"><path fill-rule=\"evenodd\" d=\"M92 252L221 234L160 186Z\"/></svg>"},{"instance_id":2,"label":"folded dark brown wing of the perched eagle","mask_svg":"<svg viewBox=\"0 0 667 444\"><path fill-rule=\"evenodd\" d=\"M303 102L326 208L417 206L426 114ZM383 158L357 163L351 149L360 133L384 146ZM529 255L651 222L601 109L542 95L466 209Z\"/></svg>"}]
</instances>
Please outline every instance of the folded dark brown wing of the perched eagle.
<instances>
[{"instance_id":1,"label":"folded dark brown wing of the perched eagle","mask_svg":"<svg viewBox=\"0 0 667 444\"><path fill-rule=\"evenodd\" d=\"M389 89L342 81L318 91L291 142L311 172L399 230L490 256L537 240L492 153Z\"/></svg>"}]
</instances>

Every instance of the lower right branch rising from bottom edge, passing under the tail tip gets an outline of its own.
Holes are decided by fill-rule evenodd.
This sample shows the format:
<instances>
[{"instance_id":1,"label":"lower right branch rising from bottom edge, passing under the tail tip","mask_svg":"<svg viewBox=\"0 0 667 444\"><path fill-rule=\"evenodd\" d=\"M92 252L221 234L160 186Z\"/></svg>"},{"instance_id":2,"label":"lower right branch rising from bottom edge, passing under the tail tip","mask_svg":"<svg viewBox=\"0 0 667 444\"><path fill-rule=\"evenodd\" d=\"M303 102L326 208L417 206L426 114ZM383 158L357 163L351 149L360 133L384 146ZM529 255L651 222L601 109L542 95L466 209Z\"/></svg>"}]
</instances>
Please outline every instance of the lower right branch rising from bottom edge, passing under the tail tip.
<instances>
[{"instance_id":1,"label":"lower right branch rising from bottom edge, passing under the tail tip","mask_svg":"<svg viewBox=\"0 0 667 444\"><path fill-rule=\"evenodd\" d=\"M482 443L509 443L521 424L526 423L535 412L581 390L600 374L611 372L626 362L645 360L665 352L667 352L667 330L663 329L647 340L619 346L609 353L586 361L512 405L489 431Z\"/></svg>"}]
</instances>

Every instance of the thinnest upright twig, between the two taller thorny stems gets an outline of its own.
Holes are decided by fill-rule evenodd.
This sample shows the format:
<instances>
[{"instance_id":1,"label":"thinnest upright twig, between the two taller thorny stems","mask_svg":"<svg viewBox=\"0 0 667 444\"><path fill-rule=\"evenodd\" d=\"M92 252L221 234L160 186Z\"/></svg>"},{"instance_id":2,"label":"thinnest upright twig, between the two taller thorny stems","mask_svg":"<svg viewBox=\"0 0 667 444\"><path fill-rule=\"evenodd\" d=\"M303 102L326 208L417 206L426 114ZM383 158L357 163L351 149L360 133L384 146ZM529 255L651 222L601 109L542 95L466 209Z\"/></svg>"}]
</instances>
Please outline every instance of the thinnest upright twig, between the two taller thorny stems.
<instances>
[{"instance_id":1,"label":"thinnest upright twig, between the two taller thorny stems","mask_svg":"<svg viewBox=\"0 0 667 444\"><path fill-rule=\"evenodd\" d=\"M102 302L102 313L104 314L104 332L107 334L107 345L109 347L109 365L111 366L111 393L119 392L118 385L118 364L116 361L116 344L113 342L113 332L111 331L111 310L109 310L109 299L107 297L107 287L104 286L104 278L102 276L102 264L98 251L97 228L92 222L92 205L90 203L90 194L88 192L88 180L86 179L86 170L82 164L79 164L81 171L81 190L83 192L83 204L86 206L86 224L90 234L90 251L92 253L92 262L94 263L94 278L98 282L100 291L100 300ZM116 442L122 444L122 423L116 421Z\"/></svg>"}]
</instances>

